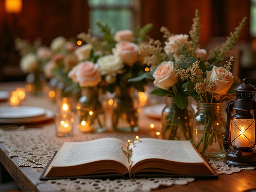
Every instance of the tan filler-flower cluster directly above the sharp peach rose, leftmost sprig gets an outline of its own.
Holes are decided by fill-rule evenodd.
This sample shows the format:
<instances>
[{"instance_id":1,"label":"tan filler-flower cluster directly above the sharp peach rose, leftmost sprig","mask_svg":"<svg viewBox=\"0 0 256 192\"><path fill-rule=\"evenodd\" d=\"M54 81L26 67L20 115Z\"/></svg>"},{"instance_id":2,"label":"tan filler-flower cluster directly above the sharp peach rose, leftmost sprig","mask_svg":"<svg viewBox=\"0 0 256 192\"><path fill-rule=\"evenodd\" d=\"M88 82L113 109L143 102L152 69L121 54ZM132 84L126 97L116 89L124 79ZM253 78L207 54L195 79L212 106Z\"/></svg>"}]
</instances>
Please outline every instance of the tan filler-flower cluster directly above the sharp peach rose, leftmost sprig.
<instances>
[{"instance_id":1,"label":"tan filler-flower cluster directly above the sharp peach rose, leftmost sprig","mask_svg":"<svg viewBox=\"0 0 256 192\"><path fill-rule=\"evenodd\" d=\"M167 60L167 55L163 52L163 47L161 47L161 42L159 40L149 39L147 45L142 45L139 48L139 53L142 51L148 51L151 55L145 57L144 64L148 66L155 66L164 60Z\"/></svg>"}]
</instances>

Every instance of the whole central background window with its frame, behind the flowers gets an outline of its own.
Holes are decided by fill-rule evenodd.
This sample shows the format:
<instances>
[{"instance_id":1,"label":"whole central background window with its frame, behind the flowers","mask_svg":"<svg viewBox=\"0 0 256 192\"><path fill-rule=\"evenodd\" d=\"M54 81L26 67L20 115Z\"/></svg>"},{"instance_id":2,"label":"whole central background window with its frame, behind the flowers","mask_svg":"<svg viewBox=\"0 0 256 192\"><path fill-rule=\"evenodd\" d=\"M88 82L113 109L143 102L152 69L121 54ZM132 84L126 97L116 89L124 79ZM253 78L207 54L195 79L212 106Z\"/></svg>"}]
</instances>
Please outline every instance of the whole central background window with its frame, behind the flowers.
<instances>
[{"instance_id":1,"label":"whole central background window with its frame, behind the flowers","mask_svg":"<svg viewBox=\"0 0 256 192\"><path fill-rule=\"evenodd\" d=\"M121 29L133 30L139 25L140 0L88 0L89 22L93 35L99 35L96 21L108 23L112 32Z\"/></svg>"}]
</instances>

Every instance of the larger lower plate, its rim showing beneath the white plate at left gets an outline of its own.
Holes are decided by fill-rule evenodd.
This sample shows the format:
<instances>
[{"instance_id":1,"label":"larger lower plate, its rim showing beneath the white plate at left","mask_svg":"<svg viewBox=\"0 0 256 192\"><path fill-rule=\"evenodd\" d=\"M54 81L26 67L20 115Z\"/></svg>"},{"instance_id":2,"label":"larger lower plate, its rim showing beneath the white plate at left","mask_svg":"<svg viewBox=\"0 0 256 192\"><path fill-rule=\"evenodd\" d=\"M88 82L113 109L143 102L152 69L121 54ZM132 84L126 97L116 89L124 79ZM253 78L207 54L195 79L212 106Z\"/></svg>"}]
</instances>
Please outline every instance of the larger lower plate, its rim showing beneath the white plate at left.
<instances>
[{"instance_id":1,"label":"larger lower plate, its rim showing beneath the white plate at left","mask_svg":"<svg viewBox=\"0 0 256 192\"><path fill-rule=\"evenodd\" d=\"M38 124L44 121L50 120L54 117L54 113L51 110L45 109L45 115L31 117L31 118L17 118L17 119L0 119L0 124L15 124L15 125L24 125L24 124Z\"/></svg>"}]
</instances>

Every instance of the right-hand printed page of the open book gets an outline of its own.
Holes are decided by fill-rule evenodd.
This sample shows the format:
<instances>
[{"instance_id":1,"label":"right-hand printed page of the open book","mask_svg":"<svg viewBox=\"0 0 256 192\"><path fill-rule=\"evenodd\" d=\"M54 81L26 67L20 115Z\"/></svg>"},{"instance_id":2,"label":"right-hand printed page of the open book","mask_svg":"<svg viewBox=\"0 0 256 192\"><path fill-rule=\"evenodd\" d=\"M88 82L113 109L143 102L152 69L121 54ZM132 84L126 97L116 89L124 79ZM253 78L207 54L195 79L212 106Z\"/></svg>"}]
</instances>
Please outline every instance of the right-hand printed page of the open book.
<instances>
[{"instance_id":1,"label":"right-hand printed page of the open book","mask_svg":"<svg viewBox=\"0 0 256 192\"><path fill-rule=\"evenodd\" d=\"M142 142L136 143L132 148L133 165L145 159L165 159L181 163L204 163L197 154L190 141L160 140L140 138Z\"/></svg>"}]
</instances>

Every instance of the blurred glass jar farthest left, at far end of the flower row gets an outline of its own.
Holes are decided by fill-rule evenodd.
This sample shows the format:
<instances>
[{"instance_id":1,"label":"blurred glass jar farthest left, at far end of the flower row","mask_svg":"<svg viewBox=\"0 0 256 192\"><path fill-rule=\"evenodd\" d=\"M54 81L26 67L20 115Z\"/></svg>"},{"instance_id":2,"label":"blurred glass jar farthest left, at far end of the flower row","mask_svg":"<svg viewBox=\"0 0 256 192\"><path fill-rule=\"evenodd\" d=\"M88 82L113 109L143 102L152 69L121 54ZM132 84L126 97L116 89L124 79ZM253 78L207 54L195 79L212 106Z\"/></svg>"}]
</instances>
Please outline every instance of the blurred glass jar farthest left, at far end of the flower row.
<instances>
[{"instance_id":1,"label":"blurred glass jar farthest left, at far end of the flower row","mask_svg":"<svg viewBox=\"0 0 256 192\"><path fill-rule=\"evenodd\" d=\"M34 95L43 94L44 75L40 73L28 74L26 78L26 90Z\"/></svg>"}]
</instances>

